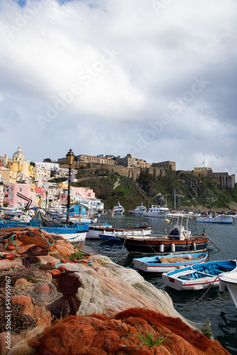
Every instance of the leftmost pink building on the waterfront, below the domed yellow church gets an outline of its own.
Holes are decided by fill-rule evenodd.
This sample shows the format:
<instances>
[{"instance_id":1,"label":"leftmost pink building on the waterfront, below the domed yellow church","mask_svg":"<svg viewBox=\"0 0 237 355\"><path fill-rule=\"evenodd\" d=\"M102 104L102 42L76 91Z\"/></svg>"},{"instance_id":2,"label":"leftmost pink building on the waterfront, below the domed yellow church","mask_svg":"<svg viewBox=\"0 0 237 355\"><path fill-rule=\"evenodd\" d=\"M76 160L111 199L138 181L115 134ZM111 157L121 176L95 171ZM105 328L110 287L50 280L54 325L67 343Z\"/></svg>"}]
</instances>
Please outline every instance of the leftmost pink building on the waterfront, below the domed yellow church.
<instances>
[{"instance_id":1,"label":"leftmost pink building on the waterfront, below the domed yellow church","mask_svg":"<svg viewBox=\"0 0 237 355\"><path fill-rule=\"evenodd\" d=\"M18 193L32 200L31 207L38 205L35 190L28 184L9 184L8 189L4 191L4 202L15 209L26 207L28 201L19 197Z\"/></svg>"}]
</instances>

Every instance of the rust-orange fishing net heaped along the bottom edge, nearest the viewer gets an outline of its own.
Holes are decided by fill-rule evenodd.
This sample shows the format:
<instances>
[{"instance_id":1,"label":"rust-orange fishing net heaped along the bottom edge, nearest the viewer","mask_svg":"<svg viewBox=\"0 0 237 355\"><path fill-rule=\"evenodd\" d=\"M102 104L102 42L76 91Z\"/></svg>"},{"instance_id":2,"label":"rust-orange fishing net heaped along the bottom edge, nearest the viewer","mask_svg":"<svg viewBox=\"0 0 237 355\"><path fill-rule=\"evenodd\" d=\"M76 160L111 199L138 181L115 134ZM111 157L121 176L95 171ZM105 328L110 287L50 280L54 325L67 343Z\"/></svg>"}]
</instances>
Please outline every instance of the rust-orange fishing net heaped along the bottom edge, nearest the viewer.
<instances>
[{"instance_id":1,"label":"rust-orange fishing net heaped along the bottom edge, nearest the viewer","mask_svg":"<svg viewBox=\"0 0 237 355\"><path fill-rule=\"evenodd\" d=\"M150 346L148 337L152 338ZM144 309L129 309L114 318L70 315L56 320L29 344L38 347L38 355L228 354L219 342L207 339L182 320Z\"/></svg>"}]
</instances>

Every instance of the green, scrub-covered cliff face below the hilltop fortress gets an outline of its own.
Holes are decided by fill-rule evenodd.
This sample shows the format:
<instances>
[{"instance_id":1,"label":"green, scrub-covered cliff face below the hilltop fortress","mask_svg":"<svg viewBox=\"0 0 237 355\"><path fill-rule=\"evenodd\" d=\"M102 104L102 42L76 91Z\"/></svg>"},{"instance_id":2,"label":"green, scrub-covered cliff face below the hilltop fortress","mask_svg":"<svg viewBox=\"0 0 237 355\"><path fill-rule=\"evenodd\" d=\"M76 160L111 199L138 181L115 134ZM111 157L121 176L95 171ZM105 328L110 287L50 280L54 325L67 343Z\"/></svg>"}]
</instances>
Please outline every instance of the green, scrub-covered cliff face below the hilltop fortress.
<instances>
[{"instance_id":1,"label":"green, scrub-covered cliff face below the hilltop fortress","mask_svg":"<svg viewBox=\"0 0 237 355\"><path fill-rule=\"evenodd\" d=\"M103 200L105 208L111 208L118 200L125 209L131 209L141 202L164 205L170 209L237 209L237 190L227 190L216 185L211 178L194 175L192 172L134 168L79 168L75 186L90 187ZM126 173L123 172L126 170ZM139 171L138 171L139 170ZM126 176L124 176L126 175ZM130 174L131 175L131 174ZM137 178L134 178L134 176Z\"/></svg>"}]
</instances>

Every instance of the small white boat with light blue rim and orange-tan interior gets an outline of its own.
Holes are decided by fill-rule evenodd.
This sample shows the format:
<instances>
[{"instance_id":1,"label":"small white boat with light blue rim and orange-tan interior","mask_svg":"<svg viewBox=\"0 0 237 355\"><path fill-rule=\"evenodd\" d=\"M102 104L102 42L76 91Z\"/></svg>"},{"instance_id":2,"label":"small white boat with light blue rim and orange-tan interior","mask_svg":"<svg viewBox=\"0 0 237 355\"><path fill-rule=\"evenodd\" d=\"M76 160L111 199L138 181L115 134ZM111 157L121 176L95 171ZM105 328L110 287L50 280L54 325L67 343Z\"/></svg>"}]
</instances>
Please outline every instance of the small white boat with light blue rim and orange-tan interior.
<instances>
[{"instance_id":1,"label":"small white boat with light blue rim and orange-tan interior","mask_svg":"<svg viewBox=\"0 0 237 355\"><path fill-rule=\"evenodd\" d=\"M208 253L169 254L167 256L144 256L134 258L133 265L145 273L167 273L176 268L204 263Z\"/></svg>"}]
</instances>

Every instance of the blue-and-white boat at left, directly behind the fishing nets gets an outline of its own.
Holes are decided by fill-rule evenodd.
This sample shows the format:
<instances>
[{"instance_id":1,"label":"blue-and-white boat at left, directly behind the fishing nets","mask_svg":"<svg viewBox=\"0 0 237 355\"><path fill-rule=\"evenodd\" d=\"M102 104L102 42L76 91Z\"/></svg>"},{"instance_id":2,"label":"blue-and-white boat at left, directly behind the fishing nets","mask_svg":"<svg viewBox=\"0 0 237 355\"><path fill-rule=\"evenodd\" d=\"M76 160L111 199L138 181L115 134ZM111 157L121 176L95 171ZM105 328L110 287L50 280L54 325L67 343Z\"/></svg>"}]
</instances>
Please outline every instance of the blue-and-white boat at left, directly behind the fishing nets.
<instances>
[{"instance_id":1,"label":"blue-and-white boat at left, directly behind the fishing nets","mask_svg":"<svg viewBox=\"0 0 237 355\"><path fill-rule=\"evenodd\" d=\"M87 231L89 230L89 223L81 222L81 223L71 223L68 225L57 224L54 222L49 222L47 219L43 217L41 212L37 212L35 217L31 219L28 223L23 222L13 222L6 221L5 219L0 220L0 229L25 226L25 227L38 227L39 229L43 229L48 233L60 234L67 241L70 242L80 242L84 243L84 240L87 235Z\"/></svg>"}]
</instances>

